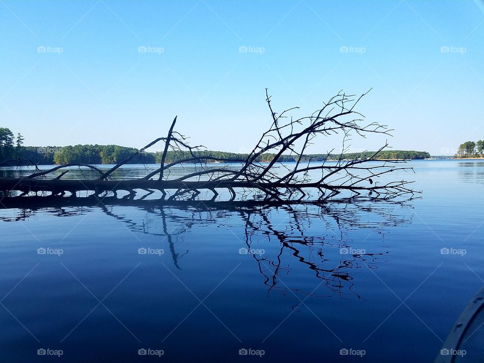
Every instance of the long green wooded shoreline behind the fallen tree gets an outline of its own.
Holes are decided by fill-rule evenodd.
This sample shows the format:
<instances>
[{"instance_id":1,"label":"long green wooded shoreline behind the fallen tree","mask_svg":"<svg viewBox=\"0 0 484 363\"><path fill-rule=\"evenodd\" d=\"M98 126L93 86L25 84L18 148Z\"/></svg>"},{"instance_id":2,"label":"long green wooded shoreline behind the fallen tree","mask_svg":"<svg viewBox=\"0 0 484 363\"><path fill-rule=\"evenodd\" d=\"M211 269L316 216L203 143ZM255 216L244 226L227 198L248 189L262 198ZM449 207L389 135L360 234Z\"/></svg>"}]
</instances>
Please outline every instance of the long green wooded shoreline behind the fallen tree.
<instances>
[{"instance_id":1,"label":"long green wooded shoreline behind the fallen tree","mask_svg":"<svg viewBox=\"0 0 484 363\"><path fill-rule=\"evenodd\" d=\"M136 148L118 146L118 145L75 145L75 146L23 146L21 134L14 136L11 130L0 128L0 162L9 165L24 164L28 160L36 165L83 163L83 164L116 164L119 163L135 152ZM197 151L198 156L211 156L215 158L245 160L248 154L231 153L224 151L201 150ZM360 153L343 154L343 159L367 159L374 155L374 151ZM161 162L162 152L143 152L141 156L133 158L129 163L158 164ZM259 156L258 161L270 162L276 154L264 153ZM189 151L168 151L165 163L171 163L177 160L190 157ZM338 160L340 154L309 154L301 158L301 161L324 161ZM430 158L430 154L425 151L405 151L405 150L385 150L381 151L377 159L425 159ZM294 162L297 156L281 155L278 161ZM22 161L24 160L24 161ZM8 162L10 161L10 162ZM16 162L18 161L18 162Z\"/></svg>"}]
</instances>

